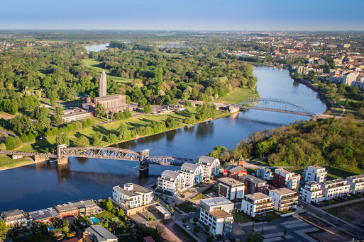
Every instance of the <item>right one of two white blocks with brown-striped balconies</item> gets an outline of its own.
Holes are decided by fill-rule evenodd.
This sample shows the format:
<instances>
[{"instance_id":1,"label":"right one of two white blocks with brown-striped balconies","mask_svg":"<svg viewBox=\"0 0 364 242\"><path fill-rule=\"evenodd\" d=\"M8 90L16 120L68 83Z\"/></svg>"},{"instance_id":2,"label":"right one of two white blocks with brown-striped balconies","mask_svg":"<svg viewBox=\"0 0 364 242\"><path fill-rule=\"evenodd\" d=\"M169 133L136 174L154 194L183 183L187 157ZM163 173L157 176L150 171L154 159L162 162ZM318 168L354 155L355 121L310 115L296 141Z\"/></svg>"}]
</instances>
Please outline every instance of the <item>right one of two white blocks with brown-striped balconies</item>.
<instances>
[{"instance_id":1,"label":"right one of two white blocks with brown-striped balconies","mask_svg":"<svg viewBox=\"0 0 364 242\"><path fill-rule=\"evenodd\" d=\"M275 209L280 212L294 210L298 204L297 192L288 188L277 188L269 191L270 197L274 202Z\"/></svg>"}]
</instances>

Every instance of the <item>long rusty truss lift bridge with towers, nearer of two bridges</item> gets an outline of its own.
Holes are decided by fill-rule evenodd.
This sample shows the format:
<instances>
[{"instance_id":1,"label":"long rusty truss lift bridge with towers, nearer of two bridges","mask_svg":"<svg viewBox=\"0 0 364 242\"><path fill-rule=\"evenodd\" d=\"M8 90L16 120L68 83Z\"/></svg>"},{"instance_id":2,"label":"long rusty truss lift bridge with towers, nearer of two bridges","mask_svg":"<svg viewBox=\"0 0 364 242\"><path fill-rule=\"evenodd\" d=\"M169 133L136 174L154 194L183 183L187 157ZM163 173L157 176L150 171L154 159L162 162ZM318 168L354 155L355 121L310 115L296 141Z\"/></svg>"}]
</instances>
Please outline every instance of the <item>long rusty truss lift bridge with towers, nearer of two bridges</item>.
<instances>
[{"instance_id":1,"label":"long rusty truss lift bridge with towers, nearer of two bridges","mask_svg":"<svg viewBox=\"0 0 364 242\"><path fill-rule=\"evenodd\" d=\"M18 159L23 156L34 157L35 163L45 161L46 158L57 159L57 164L67 163L68 157L83 157L96 159L114 159L121 161L138 161L140 171L148 170L149 165L181 166L184 162L194 163L192 159L172 156L149 156L149 149L137 152L108 146L77 146L67 147L66 144L57 146L57 153L37 153L28 151L0 151L0 154L13 156Z\"/></svg>"}]
</instances>

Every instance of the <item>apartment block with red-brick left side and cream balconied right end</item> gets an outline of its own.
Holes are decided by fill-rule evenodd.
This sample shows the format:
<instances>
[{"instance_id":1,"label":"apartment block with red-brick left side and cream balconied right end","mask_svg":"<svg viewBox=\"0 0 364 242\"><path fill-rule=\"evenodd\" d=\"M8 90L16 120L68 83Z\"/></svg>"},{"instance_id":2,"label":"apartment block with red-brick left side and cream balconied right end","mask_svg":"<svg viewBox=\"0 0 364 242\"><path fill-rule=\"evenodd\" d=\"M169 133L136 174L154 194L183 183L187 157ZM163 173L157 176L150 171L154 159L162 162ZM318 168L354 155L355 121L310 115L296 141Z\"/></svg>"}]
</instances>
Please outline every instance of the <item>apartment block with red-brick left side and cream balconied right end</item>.
<instances>
[{"instance_id":1,"label":"apartment block with red-brick left side and cream balconied right end","mask_svg":"<svg viewBox=\"0 0 364 242\"><path fill-rule=\"evenodd\" d=\"M275 188L296 190L299 188L300 180L301 175L288 171L284 168L277 168L273 175L272 185L275 186Z\"/></svg>"}]
</instances>

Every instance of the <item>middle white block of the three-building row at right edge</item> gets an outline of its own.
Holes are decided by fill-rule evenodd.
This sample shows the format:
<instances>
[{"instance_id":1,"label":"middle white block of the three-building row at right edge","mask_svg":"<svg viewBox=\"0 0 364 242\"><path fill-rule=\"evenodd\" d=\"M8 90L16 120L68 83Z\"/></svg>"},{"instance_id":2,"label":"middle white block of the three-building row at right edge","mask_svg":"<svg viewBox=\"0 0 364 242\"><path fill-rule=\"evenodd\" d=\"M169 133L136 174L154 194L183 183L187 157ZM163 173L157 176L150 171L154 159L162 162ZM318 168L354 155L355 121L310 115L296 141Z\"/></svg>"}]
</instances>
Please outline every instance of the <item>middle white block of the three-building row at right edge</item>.
<instances>
[{"instance_id":1,"label":"middle white block of the three-building row at right edge","mask_svg":"<svg viewBox=\"0 0 364 242\"><path fill-rule=\"evenodd\" d=\"M331 200L336 197L343 197L350 192L350 185L347 180L335 179L326 180L321 183L321 189L326 200Z\"/></svg>"}]
</instances>

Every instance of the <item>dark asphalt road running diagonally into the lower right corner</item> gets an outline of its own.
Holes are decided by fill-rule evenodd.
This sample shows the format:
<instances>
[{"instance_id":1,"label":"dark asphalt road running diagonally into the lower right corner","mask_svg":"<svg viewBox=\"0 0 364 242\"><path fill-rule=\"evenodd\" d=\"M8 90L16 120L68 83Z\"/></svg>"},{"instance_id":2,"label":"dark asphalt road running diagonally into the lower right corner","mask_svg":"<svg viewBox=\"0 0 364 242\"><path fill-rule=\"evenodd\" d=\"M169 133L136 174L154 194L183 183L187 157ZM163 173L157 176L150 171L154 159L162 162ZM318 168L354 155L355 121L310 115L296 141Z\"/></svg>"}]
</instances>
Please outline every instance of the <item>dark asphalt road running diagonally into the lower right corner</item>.
<instances>
[{"instance_id":1,"label":"dark asphalt road running diagonally into the lower right corner","mask_svg":"<svg viewBox=\"0 0 364 242\"><path fill-rule=\"evenodd\" d=\"M346 232L347 234L355 235L356 238L360 239L364 238L363 229L360 229L358 226L343 221L342 219L333 217L331 214L329 215L324 210L319 209L318 207L314 207L313 205L304 202L302 200L299 200L299 204L303 206L306 212L308 212L309 214L316 215L317 217L320 217L324 221L329 222L331 226L336 226L336 228Z\"/></svg>"}]
</instances>

